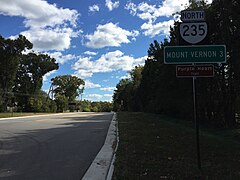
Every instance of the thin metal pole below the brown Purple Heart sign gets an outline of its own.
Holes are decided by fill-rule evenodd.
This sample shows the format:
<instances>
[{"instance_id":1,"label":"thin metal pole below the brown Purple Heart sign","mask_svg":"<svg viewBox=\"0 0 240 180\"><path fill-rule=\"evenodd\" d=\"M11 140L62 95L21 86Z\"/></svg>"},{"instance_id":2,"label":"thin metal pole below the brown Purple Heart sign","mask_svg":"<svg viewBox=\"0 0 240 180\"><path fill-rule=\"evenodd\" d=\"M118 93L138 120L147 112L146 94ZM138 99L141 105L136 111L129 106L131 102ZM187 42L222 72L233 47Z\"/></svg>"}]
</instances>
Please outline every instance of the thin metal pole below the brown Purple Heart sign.
<instances>
[{"instance_id":1,"label":"thin metal pole below the brown Purple Heart sign","mask_svg":"<svg viewBox=\"0 0 240 180\"><path fill-rule=\"evenodd\" d=\"M201 170L201 156L200 156L200 142L199 142L199 122L197 118L197 108L196 108L196 77L193 77L193 117L196 128L196 145L197 145L197 164L198 169Z\"/></svg>"}]
</instances>

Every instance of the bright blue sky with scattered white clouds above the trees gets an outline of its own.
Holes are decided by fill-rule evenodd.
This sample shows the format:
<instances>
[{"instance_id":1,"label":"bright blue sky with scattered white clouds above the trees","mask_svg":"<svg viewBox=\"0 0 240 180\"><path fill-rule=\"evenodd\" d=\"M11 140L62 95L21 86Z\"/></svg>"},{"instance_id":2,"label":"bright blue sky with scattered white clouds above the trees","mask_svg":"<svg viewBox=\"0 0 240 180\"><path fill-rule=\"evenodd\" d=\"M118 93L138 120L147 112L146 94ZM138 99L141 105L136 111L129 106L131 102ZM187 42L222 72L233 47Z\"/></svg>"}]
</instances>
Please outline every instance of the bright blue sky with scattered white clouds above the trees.
<instances>
[{"instance_id":1,"label":"bright blue sky with scattered white clouds above the trees","mask_svg":"<svg viewBox=\"0 0 240 180\"><path fill-rule=\"evenodd\" d=\"M169 36L179 18L175 13L187 5L188 0L0 0L0 35L22 34L35 52L56 59L59 69L44 76L44 91L51 78L68 74L85 81L82 99L111 101L116 84L144 65L150 43Z\"/></svg>"}]
</instances>

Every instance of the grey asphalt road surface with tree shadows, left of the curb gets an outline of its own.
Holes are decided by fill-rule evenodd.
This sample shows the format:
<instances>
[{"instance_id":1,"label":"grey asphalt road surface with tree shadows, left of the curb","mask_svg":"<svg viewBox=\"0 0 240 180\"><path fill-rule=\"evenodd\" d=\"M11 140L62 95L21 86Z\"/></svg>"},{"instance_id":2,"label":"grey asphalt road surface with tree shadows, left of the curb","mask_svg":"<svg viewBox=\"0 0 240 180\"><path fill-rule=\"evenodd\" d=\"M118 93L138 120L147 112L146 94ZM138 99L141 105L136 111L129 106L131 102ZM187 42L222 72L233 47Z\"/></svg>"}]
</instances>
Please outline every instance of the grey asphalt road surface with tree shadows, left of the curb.
<instances>
[{"instance_id":1,"label":"grey asphalt road surface with tree shadows, left of the curb","mask_svg":"<svg viewBox=\"0 0 240 180\"><path fill-rule=\"evenodd\" d=\"M0 120L0 180L80 180L104 144L112 115Z\"/></svg>"}]
</instances>

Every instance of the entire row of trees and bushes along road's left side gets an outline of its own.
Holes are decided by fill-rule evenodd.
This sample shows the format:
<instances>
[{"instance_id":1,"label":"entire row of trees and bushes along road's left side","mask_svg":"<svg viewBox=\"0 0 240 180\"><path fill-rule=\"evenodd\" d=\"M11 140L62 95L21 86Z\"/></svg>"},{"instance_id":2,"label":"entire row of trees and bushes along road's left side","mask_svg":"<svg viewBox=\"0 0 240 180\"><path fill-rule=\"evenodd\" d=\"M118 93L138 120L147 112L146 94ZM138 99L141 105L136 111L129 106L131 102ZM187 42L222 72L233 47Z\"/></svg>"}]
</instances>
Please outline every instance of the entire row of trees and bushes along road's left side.
<instances>
[{"instance_id":1,"label":"entire row of trees and bushes along road's left side","mask_svg":"<svg viewBox=\"0 0 240 180\"><path fill-rule=\"evenodd\" d=\"M21 116L26 112L111 111L110 102L77 100L85 82L76 76L51 79L48 92L41 90L43 76L57 70L58 63L48 54L35 53L26 37L5 39L0 35L0 113ZM8 112L8 113L7 113ZM14 113L13 113L14 112ZM24 112L24 113L23 113Z\"/></svg>"}]
</instances>

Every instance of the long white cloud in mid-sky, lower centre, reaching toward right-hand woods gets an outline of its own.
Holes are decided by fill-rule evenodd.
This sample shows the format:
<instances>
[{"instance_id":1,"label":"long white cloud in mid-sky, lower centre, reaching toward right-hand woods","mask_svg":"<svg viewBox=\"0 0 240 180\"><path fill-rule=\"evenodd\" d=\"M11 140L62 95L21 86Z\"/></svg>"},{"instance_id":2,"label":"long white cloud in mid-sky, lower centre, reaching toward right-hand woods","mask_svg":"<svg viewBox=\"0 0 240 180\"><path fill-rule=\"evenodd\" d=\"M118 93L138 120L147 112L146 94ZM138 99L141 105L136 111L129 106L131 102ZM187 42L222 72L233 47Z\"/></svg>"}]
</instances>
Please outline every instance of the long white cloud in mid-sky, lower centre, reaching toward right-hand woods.
<instances>
[{"instance_id":1,"label":"long white cloud in mid-sky, lower centre, reaching toward right-hand woods","mask_svg":"<svg viewBox=\"0 0 240 180\"><path fill-rule=\"evenodd\" d=\"M116 50L103 54L99 59L80 57L72 66L75 75L80 78L91 77L94 73L112 72L117 70L130 71L137 65L143 65L147 56L134 58Z\"/></svg>"}]
</instances>

